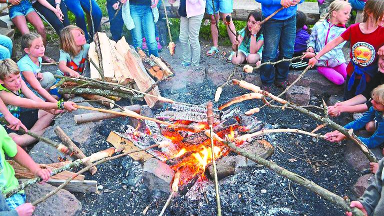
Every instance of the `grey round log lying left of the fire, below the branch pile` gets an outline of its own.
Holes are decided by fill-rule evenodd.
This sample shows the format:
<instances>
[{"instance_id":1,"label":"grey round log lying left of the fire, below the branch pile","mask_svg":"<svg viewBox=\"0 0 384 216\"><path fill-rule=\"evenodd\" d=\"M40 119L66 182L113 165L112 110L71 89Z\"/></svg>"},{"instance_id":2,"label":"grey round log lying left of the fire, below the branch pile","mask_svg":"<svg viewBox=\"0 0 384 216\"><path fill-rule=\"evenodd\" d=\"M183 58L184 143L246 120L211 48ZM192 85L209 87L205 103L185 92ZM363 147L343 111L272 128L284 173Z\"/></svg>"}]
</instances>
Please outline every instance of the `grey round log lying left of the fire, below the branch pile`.
<instances>
[{"instance_id":1,"label":"grey round log lying left of the fire, below the branch pile","mask_svg":"<svg viewBox=\"0 0 384 216\"><path fill-rule=\"evenodd\" d=\"M135 104L135 105L130 105L130 106L123 106L124 109L128 109L131 111L134 111L136 113L140 113L140 106ZM113 111L121 111L120 108L114 108L111 109ZM84 113L84 114L77 114L74 115L74 122L76 124L80 123L86 123L86 122L93 122L93 121L98 121L98 120L104 120L104 119L109 119L109 118L115 118L115 117L120 117L121 115L118 114L113 114L113 113L105 113L105 112L89 112L89 113Z\"/></svg>"}]
</instances>

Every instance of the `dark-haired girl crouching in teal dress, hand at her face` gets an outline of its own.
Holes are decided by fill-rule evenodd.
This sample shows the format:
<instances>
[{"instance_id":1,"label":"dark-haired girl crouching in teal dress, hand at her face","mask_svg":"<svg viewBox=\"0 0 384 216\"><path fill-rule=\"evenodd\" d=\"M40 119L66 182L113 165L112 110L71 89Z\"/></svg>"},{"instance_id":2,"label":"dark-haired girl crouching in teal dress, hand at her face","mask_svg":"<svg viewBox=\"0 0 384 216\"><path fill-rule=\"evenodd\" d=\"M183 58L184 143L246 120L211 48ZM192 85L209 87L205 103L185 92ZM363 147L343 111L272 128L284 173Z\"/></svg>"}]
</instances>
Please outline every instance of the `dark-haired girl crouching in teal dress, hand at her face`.
<instances>
[{"instance_id":1,"label":"dark-haired girl crouching in teal dress, hand at her face","mask_svg":"<svg viewBox=\"0 0 384 216\"><path fill-rule=\"evenodd\" d=\"M260 31L261 11L253 10L249 13L246 27L238 32L238 40L233 41L232 49L236 51L238 45L237 57L232 55L233 64L241 64L246 61L249 64L260 64L262 46L264 39Z\"/></svg>"}]
</instances>

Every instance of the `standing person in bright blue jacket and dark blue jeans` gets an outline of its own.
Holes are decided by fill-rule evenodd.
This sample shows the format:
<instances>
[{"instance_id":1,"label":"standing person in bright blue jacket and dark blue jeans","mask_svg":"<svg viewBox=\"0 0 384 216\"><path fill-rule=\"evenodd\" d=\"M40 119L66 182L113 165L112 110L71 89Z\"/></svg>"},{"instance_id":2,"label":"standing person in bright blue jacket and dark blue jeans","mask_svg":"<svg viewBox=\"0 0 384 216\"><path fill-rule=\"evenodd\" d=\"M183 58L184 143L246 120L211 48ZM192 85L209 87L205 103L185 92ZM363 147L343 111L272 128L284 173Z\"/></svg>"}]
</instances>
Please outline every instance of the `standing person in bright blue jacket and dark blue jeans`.
<instances>
[{"instance_id":1,"label":"standing person in bright blue jacket and dark blue jeans","mask_svg":"<svg viewBox=\"0 0 384 216\"><path fill-rule=\"evenodd\" d=\"M284 9L277 12L272 18L262 25L264 35L264 47L262 50L261 63L268 61L289 59L293 55L294 38L296 32L296 9L297 4L304 0L256 0L261 3L263 18L272 14L281 6ZM277 48L280 52L277 56ZM275 68L276 67L276 75ZM288 85L287 76L289 62L284 61L278 64L264 64L260 68L262 89L270 92L272 83L283 89Z\"/></svg>"}]
</instances>

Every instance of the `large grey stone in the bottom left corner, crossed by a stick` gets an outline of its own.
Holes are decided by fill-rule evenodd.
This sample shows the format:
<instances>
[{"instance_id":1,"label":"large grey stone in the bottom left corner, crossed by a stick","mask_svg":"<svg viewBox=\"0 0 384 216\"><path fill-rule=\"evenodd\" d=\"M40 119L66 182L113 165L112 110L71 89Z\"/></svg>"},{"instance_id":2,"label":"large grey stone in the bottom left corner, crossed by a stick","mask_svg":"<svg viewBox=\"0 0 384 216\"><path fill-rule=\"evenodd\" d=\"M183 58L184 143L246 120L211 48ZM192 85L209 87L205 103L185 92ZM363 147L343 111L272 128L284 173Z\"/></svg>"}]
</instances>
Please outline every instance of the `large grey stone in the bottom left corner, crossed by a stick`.
<instances>
[{"instance_id":1,"label":"large grey stone in the bottom left corner, crossed by a stick","mask_svg":"<svg viewBox=\"0 0 384 216\"><path fill-rule=\"evenodd\" d=\"M54 189L56 189L56 187L48 183L34 184L26 187L26 202L33 202ZM74 216L80 215L80 213L81 203L73 194L64 189L60 189L56 194L40 202L36 206L33 215Z\"/></svg>"}]
</instances>

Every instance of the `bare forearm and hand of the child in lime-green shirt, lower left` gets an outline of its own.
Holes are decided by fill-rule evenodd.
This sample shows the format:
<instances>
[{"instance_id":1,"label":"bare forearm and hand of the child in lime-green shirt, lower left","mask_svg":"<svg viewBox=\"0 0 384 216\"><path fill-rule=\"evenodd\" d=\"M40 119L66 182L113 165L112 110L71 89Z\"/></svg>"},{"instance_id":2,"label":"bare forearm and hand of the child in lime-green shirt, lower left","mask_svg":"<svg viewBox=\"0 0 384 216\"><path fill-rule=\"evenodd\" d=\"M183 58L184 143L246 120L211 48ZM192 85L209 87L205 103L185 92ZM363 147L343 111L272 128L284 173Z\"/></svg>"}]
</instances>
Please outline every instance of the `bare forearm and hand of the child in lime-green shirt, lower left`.
<instances>
[{"instance_id":1,"label":"bare forearm and hand of the child in lime-green shirt, lower left","mask_svg":"<svg viewBox=\"0 0 384 216\"><path fill-rule=\"evenodd\" d=\"M33 159L22 149L20 146L16 145L17 153L13 156L13 159L20 165L29 169L34 175L40 176L43 181L47 181L52 174L50 169L42 169L40 166L33 161Z\"/></svg>"}]
</instances>

